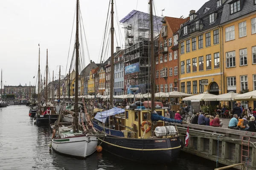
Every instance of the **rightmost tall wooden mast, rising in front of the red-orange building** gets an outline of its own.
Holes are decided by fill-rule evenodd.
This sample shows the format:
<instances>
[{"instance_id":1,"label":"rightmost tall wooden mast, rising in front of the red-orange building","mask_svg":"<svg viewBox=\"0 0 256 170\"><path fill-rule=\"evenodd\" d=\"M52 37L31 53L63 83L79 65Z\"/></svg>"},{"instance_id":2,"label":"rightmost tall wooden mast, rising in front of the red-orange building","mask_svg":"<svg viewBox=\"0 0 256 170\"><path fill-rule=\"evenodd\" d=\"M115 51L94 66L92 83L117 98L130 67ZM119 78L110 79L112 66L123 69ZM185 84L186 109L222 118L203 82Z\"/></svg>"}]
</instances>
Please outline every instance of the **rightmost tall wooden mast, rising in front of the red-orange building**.
<instances>
[{"instance_id":1,"label":"rightmost tall wooden mast, rising in front of the red-orange building","mask_svg":"<svg viewBox=\"0 0 256 170\"><path fill-rule=\"evenodd\" d=\"M150 0L150 57L151 57L151 113L155 110L155 63L154 63L154 40L153 40L153 0Z\"/></svg>"}]
</instances>

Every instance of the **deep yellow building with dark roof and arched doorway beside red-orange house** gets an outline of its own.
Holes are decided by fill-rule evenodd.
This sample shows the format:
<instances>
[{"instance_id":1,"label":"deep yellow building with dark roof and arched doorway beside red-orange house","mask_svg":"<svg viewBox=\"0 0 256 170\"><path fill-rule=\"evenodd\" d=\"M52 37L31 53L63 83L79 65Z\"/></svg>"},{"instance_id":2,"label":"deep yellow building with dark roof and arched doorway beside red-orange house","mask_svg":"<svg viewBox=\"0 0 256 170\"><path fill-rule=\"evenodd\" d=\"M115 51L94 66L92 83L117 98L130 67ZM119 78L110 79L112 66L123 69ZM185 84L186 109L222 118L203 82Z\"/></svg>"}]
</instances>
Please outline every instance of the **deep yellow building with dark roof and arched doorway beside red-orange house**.
<instances>
[{"instance_id":1,"label":"deep yellow building with dark roof and arched doorway beside red-orange house","mask_svg":"<svg viewBox=\"0 0 256 170\"><path fill-rule=\"evenodd\" d=\"M223 94L222 29L224 0L209 0L180 26L180 91L188 94Z\"/></svg>"}]
</instances>

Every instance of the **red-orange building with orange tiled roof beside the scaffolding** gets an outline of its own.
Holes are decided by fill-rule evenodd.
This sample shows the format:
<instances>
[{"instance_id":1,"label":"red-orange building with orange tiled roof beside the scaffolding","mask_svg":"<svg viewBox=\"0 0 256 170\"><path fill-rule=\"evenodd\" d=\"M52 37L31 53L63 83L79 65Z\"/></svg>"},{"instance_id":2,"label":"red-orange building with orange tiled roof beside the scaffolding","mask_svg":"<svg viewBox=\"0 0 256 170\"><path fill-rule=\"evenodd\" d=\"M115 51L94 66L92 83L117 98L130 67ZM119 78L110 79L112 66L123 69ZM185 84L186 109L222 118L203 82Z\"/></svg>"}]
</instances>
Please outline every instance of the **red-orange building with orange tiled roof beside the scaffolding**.
<instances>
[{"instance_id":1,"label":"red-orange building with orange tiled roof beside the scaffolding","mask_svg":"<svg viewBox=\"0 0 256 170\"><path fill-rule=\"evenodd\" d=\"M156 92L178 91L178 33L186 19L164 17L156 60Z\"/></svg>"}]
</instances>

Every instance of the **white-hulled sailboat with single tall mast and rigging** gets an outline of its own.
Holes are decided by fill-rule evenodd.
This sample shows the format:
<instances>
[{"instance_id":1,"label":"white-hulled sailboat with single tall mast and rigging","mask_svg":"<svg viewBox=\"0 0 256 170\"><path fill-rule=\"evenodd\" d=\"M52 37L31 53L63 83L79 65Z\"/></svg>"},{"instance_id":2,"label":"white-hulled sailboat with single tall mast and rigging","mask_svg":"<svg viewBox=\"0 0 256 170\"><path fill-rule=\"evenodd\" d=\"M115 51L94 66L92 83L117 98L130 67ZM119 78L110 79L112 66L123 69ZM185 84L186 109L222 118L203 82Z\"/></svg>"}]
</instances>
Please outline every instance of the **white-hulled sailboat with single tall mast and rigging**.
<instances>
[{"instance_id":1,"label":"white-hulled sailboat with single tall mast and rigging","mask_svg":"<svg viewBox=\"0 0 256 170\"><path fill-rule=\"evenodd\" d=\"M79 81L79 0L76 0L76 76L75 81ZM75 83L75 110L73 127L61 127L61 113L63 108L61 108L60 116L58 117L58 122L53 129L52 140L49 144L53 150L58 153L65 154L68 156L75 156L80 158L86 158L91 155L98 145L98 134L94 129L92 123L90 122L90 116L84 107L84 115L86 115L86 125L83 121L79 123L79 115L81 116L82 109L78 105L78 83ZM84 102L84 101L83 101ZM85 106L85 103L84 103ZM82 129L81 129L82 127ZM79 130L81 129L81 130Z\"/></svg>"}]
</instances>

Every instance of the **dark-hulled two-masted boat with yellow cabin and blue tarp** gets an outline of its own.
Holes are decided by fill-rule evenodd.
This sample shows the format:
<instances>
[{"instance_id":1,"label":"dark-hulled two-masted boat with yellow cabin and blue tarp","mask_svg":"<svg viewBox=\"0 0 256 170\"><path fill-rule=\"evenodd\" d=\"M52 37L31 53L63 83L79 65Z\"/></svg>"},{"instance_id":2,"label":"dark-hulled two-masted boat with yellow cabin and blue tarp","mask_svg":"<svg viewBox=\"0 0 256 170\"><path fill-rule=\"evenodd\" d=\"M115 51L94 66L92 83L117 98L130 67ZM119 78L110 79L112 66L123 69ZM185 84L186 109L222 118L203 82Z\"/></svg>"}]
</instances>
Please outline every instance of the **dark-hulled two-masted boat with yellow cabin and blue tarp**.
<instances>
[{"instance_id":1,"label":"dark-hulled two-masted boat with yellow cabin and blue tarp","mask_svg":"<svg viewBox=\"0 0 256 170\"><path fill-rule=\"evenodd\" d=\"M152 3L153 0L149 0L151 21L151 103L155 104ZM111 8L111 15L113 15L113 0ZM112 20L111 38L113 38L113 30ZM111 40L111 42L113 41ZM113 57L113 44L111 44L111 57ZM111 65L111 68L113 68L112 60ZM111 77L113 77L113 70L111 70L111 74ZM111 82L111 85L111 90L113 90L113 82ZM131 91L134 91L134 101L136 90L136 88L131 88ZM111 91L110 95L111 102L113 102L113 91ZM154 104L145 106L146 109L131 105L129 106L130 108L126 109L112 108L108 111L97 113L94 117L96 121L93 126L99 131L105 131L107 134L104 138L99 137L103 150L124 159L148 164L169 164L177 159L183 143L180 140L177 128L166 122L183 123L183 121L162 116L165 113L165 109L155 108ZM114 115L114 126L110 125L114 129L106 128L108 124L106 119L111 119L111 116Z\"/></svg>"}]
</instances>

